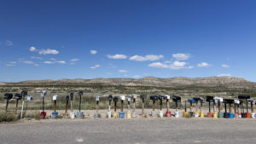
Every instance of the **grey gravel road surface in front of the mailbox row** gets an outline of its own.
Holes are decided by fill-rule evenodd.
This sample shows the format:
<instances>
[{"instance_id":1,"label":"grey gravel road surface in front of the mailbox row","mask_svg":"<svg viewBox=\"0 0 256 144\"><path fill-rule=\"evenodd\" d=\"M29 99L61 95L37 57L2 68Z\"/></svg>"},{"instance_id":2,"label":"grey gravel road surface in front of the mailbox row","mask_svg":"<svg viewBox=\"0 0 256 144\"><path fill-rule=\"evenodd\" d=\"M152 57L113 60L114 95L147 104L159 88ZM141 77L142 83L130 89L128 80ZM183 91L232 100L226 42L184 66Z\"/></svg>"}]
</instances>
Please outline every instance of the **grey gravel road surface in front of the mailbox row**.
<instances>
[{"instance_id":1,"label":"grey gravel road surface in front of the mailbox row","mask_svg":"<svg viewBox=\"0 0 256 144\"><path fill-rule=\"evenodd\" d=\"M48 119L0 124L9 143L255 143L256 119Z\"/></svg>"}]
</instances>

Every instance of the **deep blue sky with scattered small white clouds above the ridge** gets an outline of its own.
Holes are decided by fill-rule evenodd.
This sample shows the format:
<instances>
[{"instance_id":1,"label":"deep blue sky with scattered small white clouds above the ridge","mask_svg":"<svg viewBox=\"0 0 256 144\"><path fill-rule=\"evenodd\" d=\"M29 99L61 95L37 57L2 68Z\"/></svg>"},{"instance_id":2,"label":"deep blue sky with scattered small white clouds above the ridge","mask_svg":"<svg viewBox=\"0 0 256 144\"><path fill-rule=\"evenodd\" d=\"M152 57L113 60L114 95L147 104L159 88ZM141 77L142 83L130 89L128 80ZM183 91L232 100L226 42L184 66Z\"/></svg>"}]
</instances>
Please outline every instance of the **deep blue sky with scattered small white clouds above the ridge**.
<instances>
[{"instance_id":1,"label":"deep blue sky with scattered small white clouds above the ridge","mask_svg":"<svg viewBox=\"0 0 256 144\"><path fill-rule=\"evenodd\" d=\"M256 1L0 2L0 81L232 76L256 82Z\"/></svg>"}]
</instances>

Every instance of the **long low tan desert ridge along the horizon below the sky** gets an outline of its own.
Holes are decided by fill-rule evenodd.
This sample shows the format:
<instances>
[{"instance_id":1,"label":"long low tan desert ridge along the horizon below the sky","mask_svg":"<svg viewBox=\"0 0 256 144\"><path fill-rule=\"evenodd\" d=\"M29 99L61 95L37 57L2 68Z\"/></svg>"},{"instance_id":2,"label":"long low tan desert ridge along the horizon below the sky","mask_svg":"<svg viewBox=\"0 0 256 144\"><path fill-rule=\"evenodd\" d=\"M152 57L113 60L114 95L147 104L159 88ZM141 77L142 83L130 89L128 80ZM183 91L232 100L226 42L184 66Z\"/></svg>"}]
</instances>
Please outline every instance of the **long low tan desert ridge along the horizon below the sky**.
<instances>
[{"instance_id":1,"label":"long low tan desert ridge along the horizon below the sky","mask_svg":"<svg viewBox=\"0 0 256 144\"><path fill-rule=\"evenodd\" d=\"M204 86L216 87L224 86L227 88L256 88L256 83L245 80L244 78L235 77L208 77L208 78L154 78L144 77L134 78L93 78L93 79L59 79L59 80L29 80L18 83L0 83L2 85L61 85L61 84L103 84L103 85L125 85L125 86Z\"/></svg>"}]
</instances>

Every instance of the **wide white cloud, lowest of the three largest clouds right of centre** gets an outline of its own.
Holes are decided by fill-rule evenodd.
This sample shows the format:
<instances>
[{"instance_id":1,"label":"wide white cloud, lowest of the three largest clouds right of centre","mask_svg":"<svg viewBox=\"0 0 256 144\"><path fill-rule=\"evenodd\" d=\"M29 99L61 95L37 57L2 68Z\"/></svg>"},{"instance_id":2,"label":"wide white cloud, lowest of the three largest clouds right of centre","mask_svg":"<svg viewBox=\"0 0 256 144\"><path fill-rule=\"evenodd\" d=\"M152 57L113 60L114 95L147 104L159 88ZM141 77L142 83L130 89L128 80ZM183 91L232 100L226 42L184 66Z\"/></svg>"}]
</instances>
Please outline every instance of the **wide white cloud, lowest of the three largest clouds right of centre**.
<instances>
[{"instance_id":1,"label":"wide white cloud, lowest of the three largest clouds right of centre","mask_svg":"<svg viewBox=\"0 0 256 144\"><path fill-rule=\"evenodd\" d=\"M149 67L154 67L154 68L168 68L171 70L179 70L179 69L185 69L185 68L193 68L193 66L187 66L188 63L187 62L183 62L183 61L174 61L171 64L164 64L161 62L154 62L149 64Z\"/></svg>"}]
</instances>

